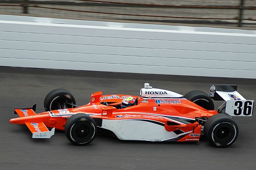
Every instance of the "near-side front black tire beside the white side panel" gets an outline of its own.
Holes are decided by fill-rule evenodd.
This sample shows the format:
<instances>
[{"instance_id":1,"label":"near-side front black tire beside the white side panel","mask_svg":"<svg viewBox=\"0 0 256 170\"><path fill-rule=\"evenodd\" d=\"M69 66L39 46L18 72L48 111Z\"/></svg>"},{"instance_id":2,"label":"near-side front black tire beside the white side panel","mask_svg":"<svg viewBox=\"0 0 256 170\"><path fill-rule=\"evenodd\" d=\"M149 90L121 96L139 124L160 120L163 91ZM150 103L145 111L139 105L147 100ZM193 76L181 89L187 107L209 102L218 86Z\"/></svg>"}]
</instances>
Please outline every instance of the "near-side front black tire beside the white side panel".
<instances>
[{"instance_id":1,"label":"near-side front black tire beside the white side panel","mask_svg":"<svg viewBox=\"0 0 256 170\"><path fill-rule=\"evenodd\" d=\"M93 141L97 133L97 125L92 117L78 113L66 121L64 131L71 143L83 146Z\"/></svg>"}]
</instances>

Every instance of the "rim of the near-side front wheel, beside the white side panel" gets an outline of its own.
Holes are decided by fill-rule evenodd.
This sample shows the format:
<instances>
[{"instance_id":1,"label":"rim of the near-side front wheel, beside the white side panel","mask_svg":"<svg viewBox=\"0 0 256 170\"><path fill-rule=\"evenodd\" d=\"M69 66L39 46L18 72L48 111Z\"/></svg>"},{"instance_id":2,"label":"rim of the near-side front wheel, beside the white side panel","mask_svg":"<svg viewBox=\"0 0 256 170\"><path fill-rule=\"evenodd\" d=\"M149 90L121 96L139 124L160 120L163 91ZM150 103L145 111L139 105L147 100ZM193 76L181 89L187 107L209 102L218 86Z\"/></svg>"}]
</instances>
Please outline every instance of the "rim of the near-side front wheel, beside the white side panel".
<instances>
[{"instance_id":1,"label":"rim of the near-side front wheel, beside the white side panel","mask_svg":"<svg viewBox=\"0 0 256 170\"><path fill-rule=\"evenodd\" d=\"M90 121L78 121L70 129L70 137L79 144L88 143L95 135L94 124Z\"/></svg>"}]
</instances>

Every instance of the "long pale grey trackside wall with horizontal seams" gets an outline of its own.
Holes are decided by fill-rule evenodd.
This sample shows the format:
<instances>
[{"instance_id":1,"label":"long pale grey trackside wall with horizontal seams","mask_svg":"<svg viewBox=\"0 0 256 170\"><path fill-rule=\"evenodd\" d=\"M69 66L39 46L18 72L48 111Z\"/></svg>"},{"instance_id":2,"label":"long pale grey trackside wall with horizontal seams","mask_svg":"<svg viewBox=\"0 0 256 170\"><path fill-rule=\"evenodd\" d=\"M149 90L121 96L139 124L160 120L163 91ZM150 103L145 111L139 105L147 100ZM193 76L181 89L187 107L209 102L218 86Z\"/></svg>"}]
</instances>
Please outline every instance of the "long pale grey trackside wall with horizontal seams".
<instances>
[{"instance_id":1,"label":"long pale grey trackside wall with horizontal seams","mask_svg":"<svg viewBox=\"0 0 256 170\"><path fill-rule=\"evenodd\" d=\"M256 31L0 15L0 65L256 78Z\"/></svg>"}]
</instances>

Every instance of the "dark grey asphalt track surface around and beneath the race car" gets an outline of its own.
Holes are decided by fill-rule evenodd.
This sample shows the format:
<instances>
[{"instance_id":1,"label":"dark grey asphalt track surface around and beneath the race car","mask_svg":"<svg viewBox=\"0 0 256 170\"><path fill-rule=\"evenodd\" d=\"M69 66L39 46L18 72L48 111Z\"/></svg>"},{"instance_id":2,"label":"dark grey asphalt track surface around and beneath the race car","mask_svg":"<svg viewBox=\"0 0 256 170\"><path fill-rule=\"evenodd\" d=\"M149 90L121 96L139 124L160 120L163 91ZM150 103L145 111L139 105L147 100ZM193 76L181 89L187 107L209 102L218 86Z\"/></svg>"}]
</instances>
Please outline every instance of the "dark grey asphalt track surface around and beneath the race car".
<instances>
[{"instance_id":1,"label":"dark grey asphalt track surface around and beneath the race car","mask_svg":"<svg viewBox=\"0 0 256 170\"><path fill-rule=\"evenodd\" d=\"M255 169L255 116L234 118L239 135L227 148L213 147L204 138L190 143L138 142L99 135L79 147L62 131L51 139L32 139L26 125L9 123L18 116L15 107L36 103L36 112L44 111L44 98L55 88L69 90L77 104L83 105L100 90L139 95L145 82L180 94L208 92L210 84L237 84L240 94L256 101L256 80L252 79L0 67L0 169ZM221 102L215 104L218 107Z\"/></svg>"}]
</instances>

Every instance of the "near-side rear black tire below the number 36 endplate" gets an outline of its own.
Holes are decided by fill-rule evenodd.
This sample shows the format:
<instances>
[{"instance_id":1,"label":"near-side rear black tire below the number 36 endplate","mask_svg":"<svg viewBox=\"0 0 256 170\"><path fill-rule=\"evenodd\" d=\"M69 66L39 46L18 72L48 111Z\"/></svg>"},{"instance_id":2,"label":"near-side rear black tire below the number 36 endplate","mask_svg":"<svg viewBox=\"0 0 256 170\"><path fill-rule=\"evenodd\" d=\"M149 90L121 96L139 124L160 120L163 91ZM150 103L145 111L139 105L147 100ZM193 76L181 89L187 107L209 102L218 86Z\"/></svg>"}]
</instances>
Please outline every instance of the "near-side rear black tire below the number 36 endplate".
<instances>
[{"instance_id":1,"label":"near-side rear black tire below the number 36 endplate","mask_svg":"<svg viewBox=\"0 0 256 170\"><path fill-rule=\"evenodd\" d=\"M204 135L212 145L228 147L238 137L238 126L229 115L219 113L204 123Z\"/></svg>"}]
</instances>

